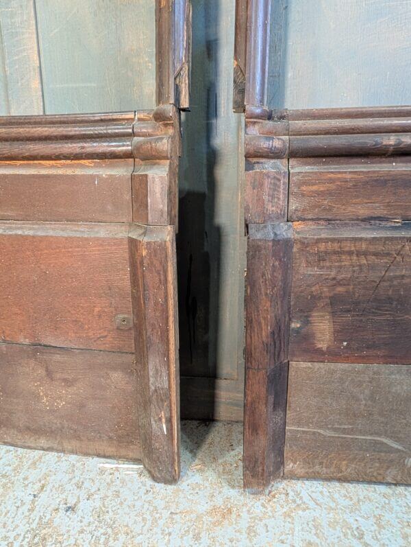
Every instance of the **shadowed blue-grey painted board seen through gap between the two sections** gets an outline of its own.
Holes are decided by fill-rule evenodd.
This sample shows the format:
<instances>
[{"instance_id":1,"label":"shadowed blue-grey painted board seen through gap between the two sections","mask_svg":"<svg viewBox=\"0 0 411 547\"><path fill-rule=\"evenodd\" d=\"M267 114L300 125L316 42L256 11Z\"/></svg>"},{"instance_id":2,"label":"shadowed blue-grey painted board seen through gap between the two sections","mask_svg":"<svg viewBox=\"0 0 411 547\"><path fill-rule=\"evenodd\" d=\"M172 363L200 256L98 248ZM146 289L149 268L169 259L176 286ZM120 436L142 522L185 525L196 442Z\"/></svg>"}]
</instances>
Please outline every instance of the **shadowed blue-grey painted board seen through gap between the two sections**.
<instances>
[{"instance_id":1,"label":"shadowed blue-grey painted board seen through gap between the two sections","mask_svg":"<svg viewBox=\"0 0 411 547\"><path fill-rule=\"evenodd\" d=\"M242 124L232 112L233 48L234 1L193 2L191 112L183 120L177 235L180 367L186 377L207 377L206 391L208 378L236 380L243 372ZM190 380L183 385L189 390Z\"/></svg>"}]
</instances>

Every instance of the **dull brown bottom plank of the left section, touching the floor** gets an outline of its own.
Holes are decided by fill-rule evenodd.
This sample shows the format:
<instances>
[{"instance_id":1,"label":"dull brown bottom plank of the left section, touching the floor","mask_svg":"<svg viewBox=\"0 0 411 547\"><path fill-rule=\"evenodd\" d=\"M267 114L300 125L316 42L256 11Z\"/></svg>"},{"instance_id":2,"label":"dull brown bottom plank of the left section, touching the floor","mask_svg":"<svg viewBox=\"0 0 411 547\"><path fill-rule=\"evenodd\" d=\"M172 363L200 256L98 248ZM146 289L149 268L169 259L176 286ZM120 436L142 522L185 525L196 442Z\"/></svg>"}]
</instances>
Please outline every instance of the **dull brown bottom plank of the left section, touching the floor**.
<instances>
[{"instance_id":1,"label":"dull brown bottom plank of the left section, touching the floor","mask_svg":"<svg viewBox=\"0 0 411 547\"><path fill-rule=\"evenodd\" d=\"M0 442L140 459L131 353L0 344Z\"/></svg>"}]
</instances>

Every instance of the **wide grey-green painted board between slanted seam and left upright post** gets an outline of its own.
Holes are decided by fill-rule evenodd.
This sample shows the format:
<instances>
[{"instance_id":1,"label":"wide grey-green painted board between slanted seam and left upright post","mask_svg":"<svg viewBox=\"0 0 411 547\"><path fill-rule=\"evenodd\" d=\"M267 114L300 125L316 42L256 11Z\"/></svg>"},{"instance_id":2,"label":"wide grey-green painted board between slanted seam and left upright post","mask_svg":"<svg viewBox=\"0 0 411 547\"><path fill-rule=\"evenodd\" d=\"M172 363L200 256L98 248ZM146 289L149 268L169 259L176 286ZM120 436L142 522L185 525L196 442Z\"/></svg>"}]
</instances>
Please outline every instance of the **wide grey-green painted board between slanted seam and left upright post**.
<instances>
[{"instance_id":1,"label":"wide grey-green painted board between slanted seam and left upright post","mask_svg":"<svg viewBox=\"0 0 411 547\"><path fill-rule=\"evenodd\" d=\"M154 5L36 0L45 112L153 108Z\"/></svg>"}]
</instances>

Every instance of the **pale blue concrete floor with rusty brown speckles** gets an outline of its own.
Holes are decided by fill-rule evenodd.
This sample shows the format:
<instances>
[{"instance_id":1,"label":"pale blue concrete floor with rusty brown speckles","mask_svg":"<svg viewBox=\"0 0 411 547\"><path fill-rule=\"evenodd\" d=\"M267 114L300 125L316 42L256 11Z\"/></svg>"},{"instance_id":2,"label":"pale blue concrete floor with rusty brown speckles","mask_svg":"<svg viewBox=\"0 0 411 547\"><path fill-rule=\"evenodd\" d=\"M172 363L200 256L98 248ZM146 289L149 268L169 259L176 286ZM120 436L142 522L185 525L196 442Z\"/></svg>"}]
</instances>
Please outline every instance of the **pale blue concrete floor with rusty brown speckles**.
<instances>
[{"instance_id":1,"label":"pale blue concrete floor with rusty brown speckles","mask_svg":"<svg viewBox=\"0 0 411 547\"><path fill-rule=\"evenodd\" d=\"M411 489L279 482L241 489L242 426L182 424L182 479L0 447L0 546L411 546Z\"/></svg>"}]
</instances>

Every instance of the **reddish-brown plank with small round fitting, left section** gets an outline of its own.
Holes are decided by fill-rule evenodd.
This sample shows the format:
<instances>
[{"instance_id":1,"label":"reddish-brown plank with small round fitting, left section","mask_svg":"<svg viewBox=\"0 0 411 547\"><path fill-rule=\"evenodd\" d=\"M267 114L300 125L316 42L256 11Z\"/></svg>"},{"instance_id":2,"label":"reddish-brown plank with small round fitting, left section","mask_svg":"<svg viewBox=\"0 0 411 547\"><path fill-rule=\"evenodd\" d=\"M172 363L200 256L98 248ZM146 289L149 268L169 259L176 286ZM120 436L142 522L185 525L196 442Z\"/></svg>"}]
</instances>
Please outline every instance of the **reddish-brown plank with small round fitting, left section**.
<instances>
[{"instance_id":1,"label":"reddish-brown plank with small round fitting, left section","mask_svg":"<svg viewBox=\"0 0 411 547\"><path fill-rule=\"evenodd\" d=\"M1 222L1 341L134 351L127 232Z\"/></svg>"}]
</instances>

